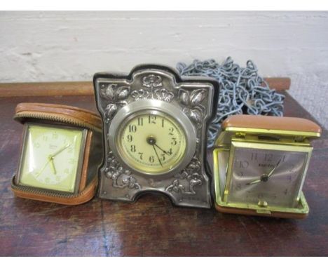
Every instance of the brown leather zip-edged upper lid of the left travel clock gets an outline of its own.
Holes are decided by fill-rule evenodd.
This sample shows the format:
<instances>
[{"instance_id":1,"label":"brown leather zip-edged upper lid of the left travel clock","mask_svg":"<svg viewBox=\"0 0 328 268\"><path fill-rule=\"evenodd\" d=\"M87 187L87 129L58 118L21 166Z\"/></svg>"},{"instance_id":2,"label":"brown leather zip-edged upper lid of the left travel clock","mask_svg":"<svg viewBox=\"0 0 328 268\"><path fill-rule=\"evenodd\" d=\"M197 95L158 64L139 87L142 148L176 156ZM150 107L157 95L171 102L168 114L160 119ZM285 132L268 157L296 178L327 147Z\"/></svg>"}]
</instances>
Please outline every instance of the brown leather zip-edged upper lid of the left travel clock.
<instances>
[{"instance_id":1,"label":"brown leather zip-edged upper lid of the left travel clock","mask_svg":"<svg viewBox=\"0 0 328 268\"><path fill-rule=\"evenodd\" d=\"M16 106L14 119L23 123L28 118L46 119L101 131L102 119L94 112L67 105L22 102Z\"/></svg>"}]
</instances>

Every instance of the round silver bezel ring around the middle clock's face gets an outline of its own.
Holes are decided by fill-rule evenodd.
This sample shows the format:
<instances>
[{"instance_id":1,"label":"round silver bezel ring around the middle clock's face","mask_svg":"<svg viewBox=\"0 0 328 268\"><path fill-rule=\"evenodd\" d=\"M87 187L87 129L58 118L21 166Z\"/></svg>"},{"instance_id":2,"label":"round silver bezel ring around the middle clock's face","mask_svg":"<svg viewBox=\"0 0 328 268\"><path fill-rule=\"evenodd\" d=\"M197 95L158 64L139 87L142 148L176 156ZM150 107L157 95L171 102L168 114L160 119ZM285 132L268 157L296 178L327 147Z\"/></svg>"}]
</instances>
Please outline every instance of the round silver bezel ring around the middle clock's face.
<instances>
[{"instance_id":1,"label":"round silver bezel ring around the middle clock's face","mask_svg":"<svg viewBox=\"0 0 328 268\"><path fill-rule=\"evenodd\" d=\"M130 121L130 119L137 116L137 114L146 111L149 111L153 114L167 114L177 123L179 123L182 130L184 131L184 137L186 139L186 150L184 152L184 156L182 156L182 160L177 163L177 166L169 171L162 173L140 172L140 170L137 170L131 166L130 163L128 163L128 161L126 161L119 152L117 140L120 138L119 134L121 133L121 128L125 126L125 122ZM139 100L137 102L131 102L129 105L122 107L114 116L114 119L111 121L111 126L109 127L109 131L107 133L107 139L109 141L109 147L111 148L114 156L116 156L124 168L133 170L133 173L137 175L142 175L144 177L156 177L158 179L170 177L185 168L196 152L197 143L196 130L189 118L182 112L181 109L161 100Z\"/></svg>"}]
</instances>

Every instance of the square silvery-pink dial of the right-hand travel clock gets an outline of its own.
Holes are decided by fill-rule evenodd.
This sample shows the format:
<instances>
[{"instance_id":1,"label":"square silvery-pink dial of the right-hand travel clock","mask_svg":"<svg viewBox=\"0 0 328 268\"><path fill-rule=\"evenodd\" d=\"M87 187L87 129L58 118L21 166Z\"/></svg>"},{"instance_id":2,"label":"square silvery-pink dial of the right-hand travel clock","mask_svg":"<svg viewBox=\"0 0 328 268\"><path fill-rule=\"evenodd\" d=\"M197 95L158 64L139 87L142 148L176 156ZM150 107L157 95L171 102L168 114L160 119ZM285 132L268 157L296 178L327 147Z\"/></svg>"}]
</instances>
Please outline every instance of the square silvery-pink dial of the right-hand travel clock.
<instances>
[{"instance_id":1,"label":"square silvery-pink dial of the right-hand travel clock","mask_svg":"<svg viewBox=\"0 0 328 268\"><path fill-rule=\"evenodd\" d=\"M235 147L229 203L294 207L307 152Z\"/></svg>"}]
</instances>

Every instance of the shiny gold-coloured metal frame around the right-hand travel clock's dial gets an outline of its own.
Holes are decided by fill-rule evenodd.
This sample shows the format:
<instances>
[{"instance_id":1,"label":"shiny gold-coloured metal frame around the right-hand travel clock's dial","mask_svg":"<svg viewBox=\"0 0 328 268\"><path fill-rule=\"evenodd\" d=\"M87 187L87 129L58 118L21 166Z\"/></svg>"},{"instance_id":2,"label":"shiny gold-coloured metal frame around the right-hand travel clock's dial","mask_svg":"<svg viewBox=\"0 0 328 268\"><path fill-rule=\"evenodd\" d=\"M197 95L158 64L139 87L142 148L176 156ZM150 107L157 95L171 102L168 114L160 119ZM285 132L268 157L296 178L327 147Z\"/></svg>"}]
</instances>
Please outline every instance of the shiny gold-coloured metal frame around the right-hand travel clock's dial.
<instances>
[{"instance_id":1,"label":"shiny gold-coloured metal frame around the right-hand travel clock's dial","mask_svg":"<svg viewBox=\"0 0 328 268\"><path fill-rule=\"evenodd\" d=\"M293 218L306 217L309 212L309 207L301 189L313 151L313 147L310 145L310 139L319 137L320 133L310 131L233 126L224 128L217 139L212 153L214 199L217 210L223 213L245 215ZM289 152L304 152L307 154L306 163L303 165L302 178L299 180L299 192L296 195L295 208L282 208L278 206L263 207L248 203L228 202L235 147L274 149Z\"/></svg>"}]
</instances>

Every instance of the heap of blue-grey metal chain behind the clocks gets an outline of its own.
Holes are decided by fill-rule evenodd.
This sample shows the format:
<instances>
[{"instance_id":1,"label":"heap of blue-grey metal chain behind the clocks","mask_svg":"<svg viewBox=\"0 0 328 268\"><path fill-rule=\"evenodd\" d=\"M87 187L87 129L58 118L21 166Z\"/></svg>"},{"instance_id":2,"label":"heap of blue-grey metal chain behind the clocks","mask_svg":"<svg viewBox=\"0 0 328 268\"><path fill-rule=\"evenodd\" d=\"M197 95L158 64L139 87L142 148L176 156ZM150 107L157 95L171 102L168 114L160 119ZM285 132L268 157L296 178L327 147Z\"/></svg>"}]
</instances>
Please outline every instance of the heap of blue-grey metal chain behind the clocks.
<instances>
[{"instance_id":1,"label":"heap of blue-grey metal chain behind the clocks","mask_svg":"<svg viewBox=\"0 0 328 268\"><path fill-rule=\"evenodd\" d=\"M177 69L183 76L212 77L221 86L217 115L207 133L208 148L214 146L221 122L232 114L283 115L285 95L269 88L268 83L257 73L252 60L247 61L245 68L228 57L222 65L215 60L194 60L191 65L179 62Z\"/></svg>"}]
</instances>

